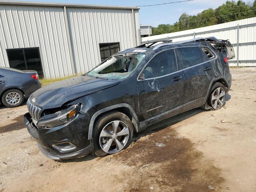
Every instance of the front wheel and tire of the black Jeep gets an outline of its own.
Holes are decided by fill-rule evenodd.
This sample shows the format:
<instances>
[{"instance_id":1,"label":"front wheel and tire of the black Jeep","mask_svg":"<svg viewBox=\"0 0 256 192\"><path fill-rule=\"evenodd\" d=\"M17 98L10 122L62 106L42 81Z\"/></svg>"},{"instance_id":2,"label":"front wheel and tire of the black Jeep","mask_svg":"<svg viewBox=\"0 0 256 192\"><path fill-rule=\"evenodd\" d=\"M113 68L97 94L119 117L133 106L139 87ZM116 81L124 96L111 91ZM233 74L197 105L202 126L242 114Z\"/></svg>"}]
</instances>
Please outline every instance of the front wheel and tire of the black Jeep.
<instances>
[{"instance_id":1,"label":"front wheel and tire of the black Jeep","mask_svg":"<svg viewBox=\"0 0 256 192\"><path fill-rule=\"evenodd\" d=\"M132 142L132 122L118 111L103 114L96 120L94 130L94 151L99 157L118 153Z\"/></svg>"}]
</instances>

